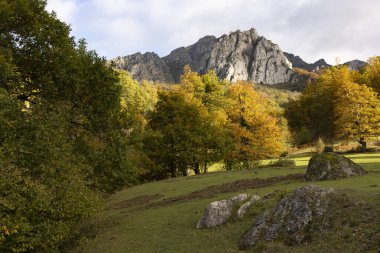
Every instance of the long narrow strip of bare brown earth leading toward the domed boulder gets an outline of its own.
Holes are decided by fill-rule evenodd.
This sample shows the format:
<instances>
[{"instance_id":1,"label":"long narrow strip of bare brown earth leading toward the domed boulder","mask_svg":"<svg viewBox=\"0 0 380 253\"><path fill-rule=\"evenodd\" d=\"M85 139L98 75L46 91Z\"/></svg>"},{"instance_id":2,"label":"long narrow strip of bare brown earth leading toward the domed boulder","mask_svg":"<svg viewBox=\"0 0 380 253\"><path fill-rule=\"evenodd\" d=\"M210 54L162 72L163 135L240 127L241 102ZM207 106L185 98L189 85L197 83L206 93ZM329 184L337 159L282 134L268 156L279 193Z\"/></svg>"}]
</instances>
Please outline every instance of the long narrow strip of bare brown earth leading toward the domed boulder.
<instances>
[{"instance_id":1,"label":"long narrow strip of bare brown earth leading toward the domed boulder","mask_svg":"<svg viewBox=\"0 0 380 253\"><path fill-rule=\"evenodd\" d=\"M242 191L245 189L252 189L252 188L261 188L261 187L271 186L279 182L284 182L284 181L289 181L289 180L292 180L292 181L304 180L304 178L305 178L304 174L298 173L298 174L289 174L286 176L270 177L266 179L254 178L254 179L238 180L235 182L225 183L225 184L220 184L220 185L212 185L212 186L208 186L208 187L202 188L200 190L197 190L188 194L184 194L184 195L180 195L180 196L172 197L172 198L166 198L157 202L148 203L145 206L138 207L136 211L141 210L140 208L146 209L146 208L152 208L152 207L161 207L161 206L172 205L178 202L191 201L194 199L212 198L214 196L217 196L223 193Z\"/></svg>"}]
</instances>

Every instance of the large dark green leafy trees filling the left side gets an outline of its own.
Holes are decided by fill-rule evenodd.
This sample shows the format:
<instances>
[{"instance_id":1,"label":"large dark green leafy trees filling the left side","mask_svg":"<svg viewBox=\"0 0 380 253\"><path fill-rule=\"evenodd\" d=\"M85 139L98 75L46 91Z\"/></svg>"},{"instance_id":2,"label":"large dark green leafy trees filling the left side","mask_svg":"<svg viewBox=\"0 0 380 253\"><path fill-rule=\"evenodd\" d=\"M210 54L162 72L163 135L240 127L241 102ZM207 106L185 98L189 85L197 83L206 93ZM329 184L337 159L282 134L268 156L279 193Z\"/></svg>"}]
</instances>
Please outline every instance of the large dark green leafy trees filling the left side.
<instances>
[{"instance_id":1,"label":"large dark green leafy trees filling the left side","mask_svg":"<svg viewBox=\"0 0 380 253\"><path fill-rule=\"evenodd\" d=\"M1 252L54 251L136 179L117 74L45 7L0 0Z\"/></svg>"}]
</instances>

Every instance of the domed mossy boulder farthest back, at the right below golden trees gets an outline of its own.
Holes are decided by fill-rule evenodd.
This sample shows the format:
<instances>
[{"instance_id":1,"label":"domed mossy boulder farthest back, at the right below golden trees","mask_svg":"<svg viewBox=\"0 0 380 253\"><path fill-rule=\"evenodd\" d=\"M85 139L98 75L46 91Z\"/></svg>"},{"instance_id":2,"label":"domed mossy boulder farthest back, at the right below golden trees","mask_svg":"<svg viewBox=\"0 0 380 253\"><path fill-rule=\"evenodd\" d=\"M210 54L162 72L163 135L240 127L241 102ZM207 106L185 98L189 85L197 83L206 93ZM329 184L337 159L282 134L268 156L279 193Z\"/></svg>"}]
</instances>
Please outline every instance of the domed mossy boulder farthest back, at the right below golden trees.
<instances>
[{"instance_id":1,"label":"domed mossy boulder farthest back, at the right below golden trees","mask_svg":"<svg viewBox=\"0 0 380 253\"><path fill-rule=\"evenodd\" d=\"M335 153L322 153L310 159L306 171L306 180L331 180L365 173L362 167L344 156Z\"/></svg>"}]
</instances>

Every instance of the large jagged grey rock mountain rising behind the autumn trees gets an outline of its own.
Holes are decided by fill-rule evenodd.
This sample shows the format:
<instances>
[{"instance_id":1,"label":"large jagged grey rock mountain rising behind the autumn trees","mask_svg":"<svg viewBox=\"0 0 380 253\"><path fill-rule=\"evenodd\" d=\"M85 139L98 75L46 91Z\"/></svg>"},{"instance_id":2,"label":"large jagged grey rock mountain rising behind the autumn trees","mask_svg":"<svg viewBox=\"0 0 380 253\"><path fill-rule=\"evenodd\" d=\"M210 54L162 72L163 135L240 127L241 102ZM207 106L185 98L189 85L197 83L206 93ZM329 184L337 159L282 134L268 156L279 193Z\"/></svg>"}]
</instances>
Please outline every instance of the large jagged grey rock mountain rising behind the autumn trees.
<instances>
[{"instance_id":1,"label":"large jagged grey rock mountain rising behind the autumn trees","mask_svg":"<svg viewBox=\"0 0 380 253\"><path fill-rule=\"evenodd\" d=\"M264 84L292 82L296 73L280 47L259 36L255 29L220 38L206 36L197 43L159 58L154 53L118 57L113 61L135 79L178 82L185 65L204 74L215 70L220 79Z\"/></svg>"}]
</instances>

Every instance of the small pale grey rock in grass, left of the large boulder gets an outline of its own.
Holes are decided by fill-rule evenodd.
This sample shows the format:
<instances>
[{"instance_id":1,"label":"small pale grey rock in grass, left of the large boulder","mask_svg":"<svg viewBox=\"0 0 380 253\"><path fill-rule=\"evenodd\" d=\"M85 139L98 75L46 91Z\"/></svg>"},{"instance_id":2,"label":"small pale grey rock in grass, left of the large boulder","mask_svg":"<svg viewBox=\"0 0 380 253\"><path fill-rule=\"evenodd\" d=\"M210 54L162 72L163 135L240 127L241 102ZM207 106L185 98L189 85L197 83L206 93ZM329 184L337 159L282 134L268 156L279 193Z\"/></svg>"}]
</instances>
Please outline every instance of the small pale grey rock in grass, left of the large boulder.
<instances>
[{"instance_id":1,"label":"small pale grey rock in grass, left of the large boulder","mask_svg":"<svg viewBox=\"0 0 380 253\"><path fill-rule=\"evenodd\" d=\"M225 224L231 217L235 205L246 201L248 198L248 194L239 194L228 200L211 202L199 219L197 228L212 228Z\"/></svg>"}]
</instances>

